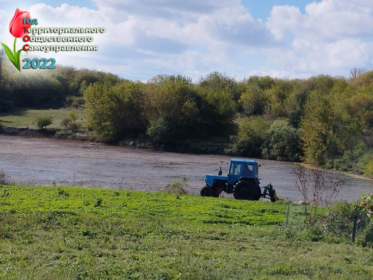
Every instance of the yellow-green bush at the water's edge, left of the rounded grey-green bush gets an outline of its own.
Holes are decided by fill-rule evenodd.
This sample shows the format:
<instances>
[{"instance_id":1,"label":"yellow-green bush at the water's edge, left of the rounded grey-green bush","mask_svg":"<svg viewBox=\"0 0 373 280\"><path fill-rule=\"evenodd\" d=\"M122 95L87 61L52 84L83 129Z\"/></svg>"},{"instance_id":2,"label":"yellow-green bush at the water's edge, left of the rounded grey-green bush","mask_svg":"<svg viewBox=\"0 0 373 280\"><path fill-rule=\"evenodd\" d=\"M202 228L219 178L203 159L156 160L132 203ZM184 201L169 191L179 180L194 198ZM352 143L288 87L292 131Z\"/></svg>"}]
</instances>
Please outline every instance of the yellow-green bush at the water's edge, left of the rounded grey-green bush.
<instances>
[{"instance_id":1,"label":"yellow-green bush at the water's edge, left of the rounded grey-green bush","mask_svg":"<svg viewBox=\"0 0 373 280\"><path fill-rule=\"evenodd\" d=\"M261 145L266 139L269 124L262 116L248 117L239 123L238 134L233 138L232 152L244 156L260 157Z\"/></svg>"}]
</instances>

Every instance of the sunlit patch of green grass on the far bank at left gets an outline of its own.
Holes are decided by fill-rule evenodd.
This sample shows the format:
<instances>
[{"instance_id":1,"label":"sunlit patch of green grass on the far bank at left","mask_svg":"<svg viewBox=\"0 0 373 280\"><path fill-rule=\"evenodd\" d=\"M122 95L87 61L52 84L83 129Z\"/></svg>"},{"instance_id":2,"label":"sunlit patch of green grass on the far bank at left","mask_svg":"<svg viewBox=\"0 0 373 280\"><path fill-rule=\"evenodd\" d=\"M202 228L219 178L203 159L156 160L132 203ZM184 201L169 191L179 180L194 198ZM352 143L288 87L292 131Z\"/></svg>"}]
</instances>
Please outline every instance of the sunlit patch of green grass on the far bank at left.
<instances>
[{"instance_id":1,"label":"sunlit patch of green grass on the far bank at left","mask_svg":"<svg viewBox=\"0 0 373 280\"><path fill-rule=\"evenodd\" d=\"M60 128L60 123L64 117L67 117L70 109L58 109L58 110L33 110L33 109L26 109L20 108L13 112L2 112L0 113L0 121L2 121L4 127L29 127L32 129L36 129L36 127L32 124L37 116L54 116L53 123L48 126L48 128ZM78 116L77 123L84 127L84 110L74 109L74 112ZM83 120L80 119L83 118Z\"/></svg>"}]
</instances>

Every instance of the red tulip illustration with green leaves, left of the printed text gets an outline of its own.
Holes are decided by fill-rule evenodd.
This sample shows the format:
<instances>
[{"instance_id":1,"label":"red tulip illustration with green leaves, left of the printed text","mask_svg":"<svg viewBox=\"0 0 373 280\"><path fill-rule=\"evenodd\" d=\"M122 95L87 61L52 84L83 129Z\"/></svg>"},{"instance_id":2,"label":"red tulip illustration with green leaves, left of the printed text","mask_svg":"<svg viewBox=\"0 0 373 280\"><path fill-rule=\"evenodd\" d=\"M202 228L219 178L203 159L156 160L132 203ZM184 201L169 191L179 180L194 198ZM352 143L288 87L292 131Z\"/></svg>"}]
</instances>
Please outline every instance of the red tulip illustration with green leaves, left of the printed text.
<instances>
[{"instance_id":1,"label":"red tulip illustration with green leaves, left of the printed text","mask_svg":"<svg viewBox=\"0 0 373 280\"><path fill-rule=\"evenodd\" d=\"M5 44L1 43L2 47L4 48L4 51L6 55L9 57L10 61L16 66L16 68L21 71L21 65L20 65L20 55L23 49L16 51L16 42L17 38L22 38L28 34L28 32L25 32L26 28L30 28L30 24L25 24L24 19L30 18L30 12L27 11L21 11L19 8L16 9L16 12L14 13L14 16L9 24L9 32L12 34L14 38L14 53L6 46Z\"/></svg>"}]
</instances>

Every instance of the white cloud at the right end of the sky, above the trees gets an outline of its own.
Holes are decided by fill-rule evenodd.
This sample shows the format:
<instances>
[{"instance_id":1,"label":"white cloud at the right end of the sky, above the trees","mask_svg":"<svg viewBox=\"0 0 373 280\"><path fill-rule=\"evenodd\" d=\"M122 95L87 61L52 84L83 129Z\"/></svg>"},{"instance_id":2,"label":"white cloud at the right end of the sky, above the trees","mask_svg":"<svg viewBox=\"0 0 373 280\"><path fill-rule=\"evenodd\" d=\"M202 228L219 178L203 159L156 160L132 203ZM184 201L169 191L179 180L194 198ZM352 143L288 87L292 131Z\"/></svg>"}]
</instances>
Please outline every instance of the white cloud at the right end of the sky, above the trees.
<instances>
[{"instance_id":1,"label":"white cloud at the right end of the sky, above the trees","mask_svg":"<svg viewBox=\"0 0 373 280\"><path fill-rule=\"evenodd\" d=\"M263 50L274 66L293 73L347 75L372 67L373 1L322 0L274 6L266 22L284 45Z\"/></svg>"}]
</instances>

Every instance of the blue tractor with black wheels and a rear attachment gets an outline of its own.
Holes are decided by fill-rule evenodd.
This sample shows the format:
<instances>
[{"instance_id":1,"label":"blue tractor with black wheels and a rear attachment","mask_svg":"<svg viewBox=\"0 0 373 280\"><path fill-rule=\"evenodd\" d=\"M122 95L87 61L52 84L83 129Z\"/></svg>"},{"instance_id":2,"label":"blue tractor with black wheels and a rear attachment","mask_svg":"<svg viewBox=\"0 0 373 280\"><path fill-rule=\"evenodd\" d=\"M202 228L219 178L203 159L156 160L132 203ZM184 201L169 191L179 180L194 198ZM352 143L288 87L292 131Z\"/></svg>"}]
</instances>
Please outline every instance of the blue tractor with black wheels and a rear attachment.
<instances>
[{"instance_id":1,"label":"blue tractor with black wheels and a rear attachment","mask_svg":"<svg viewBox=\"0 0 373 280\"><path fill-rule=\"evenodd\" d=\"M218 175L206 175L206 187L201 189L201 196L218 197L221 192L233 194L236 199L259 200L268 198L272 202L278 200L272 184L261 190L258 179L259 165L254 160L231 159L227 176L222 175L221 167Z\"/></svg>"}]
</instances>

